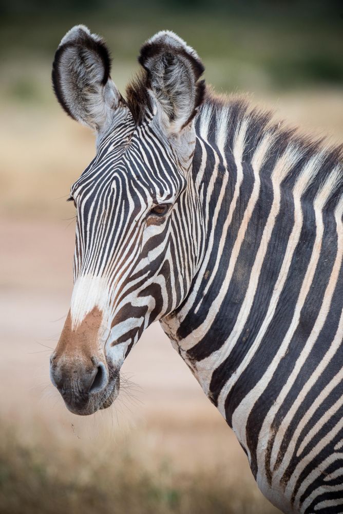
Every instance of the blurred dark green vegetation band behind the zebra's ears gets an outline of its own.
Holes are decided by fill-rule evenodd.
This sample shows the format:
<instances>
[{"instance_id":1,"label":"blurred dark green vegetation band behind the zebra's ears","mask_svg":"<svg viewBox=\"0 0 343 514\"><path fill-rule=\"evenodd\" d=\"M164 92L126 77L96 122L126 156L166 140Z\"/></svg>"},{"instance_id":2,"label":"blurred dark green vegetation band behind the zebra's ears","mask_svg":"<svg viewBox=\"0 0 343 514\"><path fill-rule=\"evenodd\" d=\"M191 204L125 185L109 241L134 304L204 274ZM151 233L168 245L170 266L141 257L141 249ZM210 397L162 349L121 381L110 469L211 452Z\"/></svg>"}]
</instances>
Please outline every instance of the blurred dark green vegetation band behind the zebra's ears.
<instances>
[{"instance_id":1,"label":"blurred dark green vegetation band behind the zebra's ears","mask_svg":"<svg viewBox=\"0 0 343 514\"><path fill-rule=\"evenodd\" d=\"M206 79L224 91L343 85L343 11L332 0L3 0L0 6L0 93L11 101L44 103L51 98L41 89L50 87L54 51L78 23L104 36L119 84L137 69L141 44L169 28L197 49ZM39 68L44 69L43 82ZM33 80L27 80L27 73Z\"/></svg>"}]
</instances>

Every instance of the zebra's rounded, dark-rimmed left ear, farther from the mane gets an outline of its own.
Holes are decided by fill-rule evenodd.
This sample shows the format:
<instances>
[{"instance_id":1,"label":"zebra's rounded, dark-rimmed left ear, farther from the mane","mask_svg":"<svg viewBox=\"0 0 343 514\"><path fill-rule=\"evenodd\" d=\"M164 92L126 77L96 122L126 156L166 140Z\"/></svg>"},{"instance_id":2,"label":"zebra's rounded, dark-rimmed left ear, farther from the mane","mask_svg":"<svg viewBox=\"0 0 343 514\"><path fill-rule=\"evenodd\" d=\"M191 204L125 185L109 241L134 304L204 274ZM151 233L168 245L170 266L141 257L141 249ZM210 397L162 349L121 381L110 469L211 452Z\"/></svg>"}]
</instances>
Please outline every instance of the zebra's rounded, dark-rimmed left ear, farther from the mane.
<instances>
[{"instance_id":1,"label":"zebra's rounded, dark-rimmed left ear, farther from the mane","mask_svg":"<svg viewBox=\"0 0 343 514\"><path fill-rule=\"evenodd\" d=\"M122 98L110 78L110 67L104 41L84 25L66 33L52 65L53 89L63 109L98 131L110 124Z\"/></svg>"}]
</instances>

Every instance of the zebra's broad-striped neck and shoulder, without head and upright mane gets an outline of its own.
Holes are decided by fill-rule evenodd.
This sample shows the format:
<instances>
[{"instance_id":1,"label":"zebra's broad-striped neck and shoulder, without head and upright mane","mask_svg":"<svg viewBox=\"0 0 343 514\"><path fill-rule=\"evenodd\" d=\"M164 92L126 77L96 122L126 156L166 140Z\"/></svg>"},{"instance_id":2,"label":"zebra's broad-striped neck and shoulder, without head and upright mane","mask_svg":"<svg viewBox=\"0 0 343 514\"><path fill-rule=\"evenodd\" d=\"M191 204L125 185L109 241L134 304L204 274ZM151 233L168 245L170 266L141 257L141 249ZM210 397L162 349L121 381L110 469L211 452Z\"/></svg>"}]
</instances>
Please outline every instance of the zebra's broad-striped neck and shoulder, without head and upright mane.
<instances>
[{"instance_id":1,"label":"zebra's broad-striped neck and shoulder, without head and upright mane","mask_svg":"<svg viewBox=\"0 0 343 514\"><path fill-rule=\"evenodd\" d=\"M341 169L329 152L266 132L237 99L205 103L196 127L206 250L188 297L161 324L235 431L266 497L286 512L337 512Z\"/></svg>"}]
</instances>

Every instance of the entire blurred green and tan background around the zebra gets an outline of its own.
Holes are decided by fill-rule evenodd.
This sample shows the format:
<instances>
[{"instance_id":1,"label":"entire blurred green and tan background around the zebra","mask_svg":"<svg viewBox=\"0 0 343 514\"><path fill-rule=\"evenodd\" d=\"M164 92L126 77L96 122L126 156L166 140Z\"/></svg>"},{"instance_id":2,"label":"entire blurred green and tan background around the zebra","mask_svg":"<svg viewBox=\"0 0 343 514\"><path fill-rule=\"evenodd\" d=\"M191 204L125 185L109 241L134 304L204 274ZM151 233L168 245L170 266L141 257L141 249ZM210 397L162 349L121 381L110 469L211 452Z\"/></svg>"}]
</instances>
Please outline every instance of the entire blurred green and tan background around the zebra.
<instances>
[{"instance_id":1,"label":"entire blurred green and tan background around the zebra","mask_svg":"<svg viewBox=\"0 0 343 514\"><path fill-rule=\"evenodd\" d=\"M302 131L343 136L341 3L0 1L0 513L278 512L234 434L154 324L123 366L116 405L81 418L50 385L72 289L71 183L94 155L50 83L62 36L107 41L124 93L161 29L196 48L207 83L246 91Z\"/></svg>"}]
</instances>

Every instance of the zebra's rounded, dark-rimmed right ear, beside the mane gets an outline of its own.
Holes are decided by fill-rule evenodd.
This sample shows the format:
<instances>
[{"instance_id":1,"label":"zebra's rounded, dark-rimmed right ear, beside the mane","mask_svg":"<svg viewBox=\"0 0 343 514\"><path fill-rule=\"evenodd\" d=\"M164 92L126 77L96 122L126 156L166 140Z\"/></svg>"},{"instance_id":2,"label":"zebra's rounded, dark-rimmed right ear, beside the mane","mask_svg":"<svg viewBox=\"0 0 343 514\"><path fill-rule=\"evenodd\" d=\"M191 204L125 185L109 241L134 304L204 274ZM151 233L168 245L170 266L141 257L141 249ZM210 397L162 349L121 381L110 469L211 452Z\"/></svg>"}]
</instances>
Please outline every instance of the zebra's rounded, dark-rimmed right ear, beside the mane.
<instances>
[{"instance_id":1,"label":"zebra's rounded, dark-rimmed right ear, beside the mane","mask_svg":"<svg viewBox=\"0 0 343 514\"><path fill-rule=\"evenodd\" d=\"M141 48L139 62L167 135L179 134L197 113L205 91L204 71L196 51L169 30L158 32Z\"/></svg>"}]
</instances>

